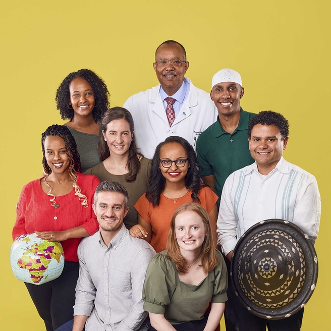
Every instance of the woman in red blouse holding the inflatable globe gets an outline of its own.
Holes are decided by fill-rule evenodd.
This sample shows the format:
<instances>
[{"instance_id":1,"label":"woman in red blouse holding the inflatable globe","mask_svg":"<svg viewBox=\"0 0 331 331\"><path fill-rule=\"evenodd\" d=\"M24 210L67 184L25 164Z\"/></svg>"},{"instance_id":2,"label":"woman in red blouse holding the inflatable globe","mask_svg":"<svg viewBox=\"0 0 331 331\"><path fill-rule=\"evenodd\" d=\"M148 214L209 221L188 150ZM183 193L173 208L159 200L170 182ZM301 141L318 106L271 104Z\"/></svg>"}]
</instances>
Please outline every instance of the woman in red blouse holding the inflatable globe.
<instances>
[{"instance_id":1,"label":"woman in red blouse holding the inflatable globe","mask_svg":"<svg viewBox=\"0 0 331 331\"><path fill-rule=\"evenodd\" d=\"M37 237L60 241L65 266L59 278L36 286L25 283L46 330L72 319L79 274L77 248L83 237L99 228L92 210L93 194L100 181L81 174L76 142L69 129L52 125L41 135L45 176L23 187L13 239L39 232Z\"/></svg>"}]
</instances>

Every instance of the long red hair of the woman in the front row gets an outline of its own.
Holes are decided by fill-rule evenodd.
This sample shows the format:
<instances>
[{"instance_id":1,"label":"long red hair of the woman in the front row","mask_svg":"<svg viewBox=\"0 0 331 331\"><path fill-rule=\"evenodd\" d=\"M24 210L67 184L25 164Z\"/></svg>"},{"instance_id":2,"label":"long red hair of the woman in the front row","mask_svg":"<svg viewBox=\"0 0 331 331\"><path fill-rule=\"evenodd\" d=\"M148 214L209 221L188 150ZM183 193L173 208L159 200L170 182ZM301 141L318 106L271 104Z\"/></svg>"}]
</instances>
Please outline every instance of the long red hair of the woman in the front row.
<instances>
[{"instance_id":1,"label":"long red hair of the woman in the front row","mask_svg":"<svg viewBox=\"0 0 331 331\"><path fill-rule=\"evenodd\" d=\"M170 231L167 239L167 255L166 257L173 260L178 272L185 273L188 270L188 264L181 254L177 239L176 239L176 217L185 211L193 211L201 220L205 227L205 239L201 247L201 265L204 272L209 272L218 264L218 257L215 254L214 242L210 221L207 211L198 203L187 202L176 209L170 223Z\"/></svg>"}]
</instances>

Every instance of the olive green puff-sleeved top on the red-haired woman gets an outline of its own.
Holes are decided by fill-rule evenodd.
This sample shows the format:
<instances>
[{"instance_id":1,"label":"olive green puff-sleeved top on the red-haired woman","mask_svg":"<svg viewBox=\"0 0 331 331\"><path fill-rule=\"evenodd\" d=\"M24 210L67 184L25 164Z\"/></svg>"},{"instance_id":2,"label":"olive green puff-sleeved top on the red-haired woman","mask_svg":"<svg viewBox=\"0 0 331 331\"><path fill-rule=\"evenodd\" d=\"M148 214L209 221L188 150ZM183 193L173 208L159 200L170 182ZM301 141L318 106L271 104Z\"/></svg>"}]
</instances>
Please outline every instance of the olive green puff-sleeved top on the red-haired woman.
<instances>
[{"instance_id":1,"label":"olive green puff-sleeved top on the red-haired woman","mask_svg":"<svg viewBox=\"0 0 331 331\"><path fill-rule=\"evenodd\" d=\"M167 251L156 254L146 271L143 308L163 314L171 324L181 324L202 319L209 302L227 301L227 267L219 251L215 252L219 262L199 285L179 280L175 263L164 256Z\"/></svg>"}]
</instances>

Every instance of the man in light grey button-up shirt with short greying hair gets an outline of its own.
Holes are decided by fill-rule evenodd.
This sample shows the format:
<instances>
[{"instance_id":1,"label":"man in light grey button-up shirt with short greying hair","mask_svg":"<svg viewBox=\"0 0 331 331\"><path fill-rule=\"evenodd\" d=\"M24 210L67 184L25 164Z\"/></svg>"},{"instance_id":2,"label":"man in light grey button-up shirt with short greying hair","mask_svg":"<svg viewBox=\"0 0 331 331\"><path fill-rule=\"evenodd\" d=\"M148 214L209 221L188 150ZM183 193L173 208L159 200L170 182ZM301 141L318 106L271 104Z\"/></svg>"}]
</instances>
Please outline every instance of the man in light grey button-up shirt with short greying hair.
<instances>
[{"instance_id":1,"label":"man in light grey button-up shirt with short greying hair","mask_svg":"<svg viewBox=\"0 0 331 331\"><path fill-rule=\"evenodd\" d=\"M78 247L79 279L74 320L58 330L147 330L142 287L154 249L133 238L123 224L128 193L117 182L99 184L93 210L100 230ZM63 328L64 327L64 328Z\"/></svg>"}]
</instances>

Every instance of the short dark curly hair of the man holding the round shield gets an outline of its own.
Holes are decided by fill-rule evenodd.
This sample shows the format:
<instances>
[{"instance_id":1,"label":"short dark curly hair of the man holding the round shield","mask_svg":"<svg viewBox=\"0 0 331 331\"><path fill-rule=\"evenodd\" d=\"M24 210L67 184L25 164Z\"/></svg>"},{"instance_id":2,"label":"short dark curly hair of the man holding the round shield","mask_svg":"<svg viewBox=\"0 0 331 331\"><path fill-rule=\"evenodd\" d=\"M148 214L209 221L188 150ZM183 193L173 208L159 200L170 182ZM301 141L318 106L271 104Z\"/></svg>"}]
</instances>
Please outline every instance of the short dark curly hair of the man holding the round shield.
<instances>
[{"instance_id":1,"label":"short dark curly hair of the man holding the round shield","mask_svg":"<svg viewBox=\"0 0 331 331\"><path fill-rule=\"evenodd\" d=\"M274 125L279 129L282 135L282 140L284 140L289 135L289 121L282 114L271 111L263 111L258 113L248 123L248 137L251 136L252 129L257 124Z\"/></svg>"}]
</instances>

